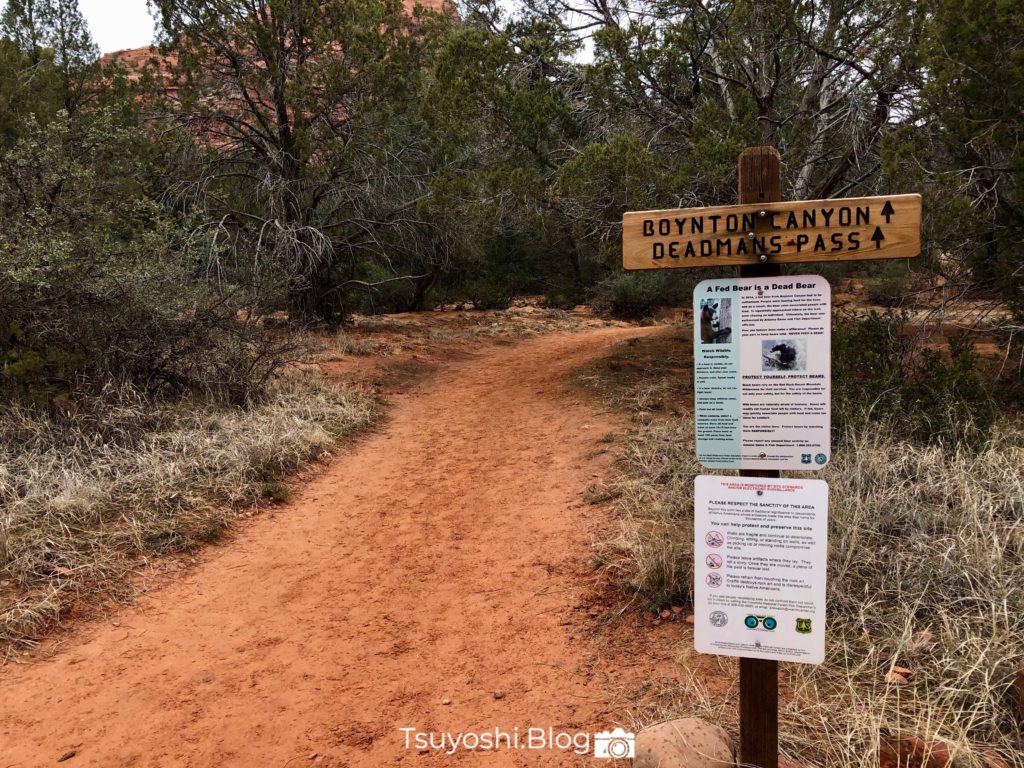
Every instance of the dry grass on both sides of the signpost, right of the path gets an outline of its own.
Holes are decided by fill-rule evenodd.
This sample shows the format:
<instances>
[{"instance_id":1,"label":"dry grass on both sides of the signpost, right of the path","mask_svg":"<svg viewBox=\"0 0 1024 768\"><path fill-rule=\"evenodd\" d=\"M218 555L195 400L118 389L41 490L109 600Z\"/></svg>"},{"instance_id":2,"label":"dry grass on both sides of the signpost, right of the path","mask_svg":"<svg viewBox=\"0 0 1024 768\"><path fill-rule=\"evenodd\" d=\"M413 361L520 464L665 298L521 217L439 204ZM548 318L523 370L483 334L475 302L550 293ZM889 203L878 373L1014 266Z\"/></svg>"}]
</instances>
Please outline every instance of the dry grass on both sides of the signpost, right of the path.
<instances>
[{"instance_id":1,"label":"dry grass on both sides of the signpost, right of the path","mask_svg":"<svg viewBox=\"0 0 1024 768\"><path fill-rule=\"evenodd\" d=\"M639 425L618 475L592 494L614 499L622 516L598 545L601 560L630 598L685 600L700 471L692 419L605 383ZM648 386L665 383L655 375ZM880 734L913 735L947 744L959 768L985 765L986 753L1024 768L1011 691L1024 659L1024 427L1008 420L981 451L943 451L865 418L835 453L820 475L830 487L827 658L783 666L782 751L808 765L874 768ZM912 671L907 683L885 682L894 664ZM697 715L735 734L735 689L714 695L702 674L636 701L641 721ZM734 665L723 660L722 674Z\"/></svg>"}]
</instances>

